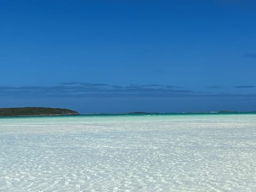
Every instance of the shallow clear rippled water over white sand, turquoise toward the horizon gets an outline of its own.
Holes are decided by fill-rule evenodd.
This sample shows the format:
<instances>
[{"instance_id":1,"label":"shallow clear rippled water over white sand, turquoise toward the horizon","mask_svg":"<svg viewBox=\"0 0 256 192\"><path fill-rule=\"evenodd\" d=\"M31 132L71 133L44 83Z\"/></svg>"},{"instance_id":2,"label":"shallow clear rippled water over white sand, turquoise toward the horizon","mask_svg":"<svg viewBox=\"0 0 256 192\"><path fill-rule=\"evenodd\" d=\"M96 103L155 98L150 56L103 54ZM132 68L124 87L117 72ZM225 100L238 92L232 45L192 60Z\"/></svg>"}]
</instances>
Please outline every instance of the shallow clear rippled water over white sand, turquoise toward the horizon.
<instances>
[{"instance_id":1,"label":"shallow clear rippled water over white sand, turquoise toward the horizon","mask_svg":"<svg viewBox=\"0 0 256 192\"><path fill-rule=\"evenodd\" d=\"M256 115L0 118L0 191L255 191Z\"/></svg>"}]
</instances>

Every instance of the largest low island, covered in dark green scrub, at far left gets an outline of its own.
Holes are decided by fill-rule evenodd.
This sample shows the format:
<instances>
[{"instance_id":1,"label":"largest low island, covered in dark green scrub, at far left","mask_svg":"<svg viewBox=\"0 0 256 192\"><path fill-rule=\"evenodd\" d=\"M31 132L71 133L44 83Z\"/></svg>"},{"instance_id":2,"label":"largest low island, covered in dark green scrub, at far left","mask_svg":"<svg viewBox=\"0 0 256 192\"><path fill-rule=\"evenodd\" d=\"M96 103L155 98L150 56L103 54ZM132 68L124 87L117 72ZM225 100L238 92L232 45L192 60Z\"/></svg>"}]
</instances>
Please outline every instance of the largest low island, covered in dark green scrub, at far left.
<instances>
[{"instance_id":1,"label":"largest low island, covered in dark green scrub, at far left","mask_svg":"<svg viewBox=\"0 0 256 192\"><path fill-rule=\"evenodd\" d=\"M47 107L0 108L0 116L79 115L77 111Z\"/></svg>"}]
</instances>

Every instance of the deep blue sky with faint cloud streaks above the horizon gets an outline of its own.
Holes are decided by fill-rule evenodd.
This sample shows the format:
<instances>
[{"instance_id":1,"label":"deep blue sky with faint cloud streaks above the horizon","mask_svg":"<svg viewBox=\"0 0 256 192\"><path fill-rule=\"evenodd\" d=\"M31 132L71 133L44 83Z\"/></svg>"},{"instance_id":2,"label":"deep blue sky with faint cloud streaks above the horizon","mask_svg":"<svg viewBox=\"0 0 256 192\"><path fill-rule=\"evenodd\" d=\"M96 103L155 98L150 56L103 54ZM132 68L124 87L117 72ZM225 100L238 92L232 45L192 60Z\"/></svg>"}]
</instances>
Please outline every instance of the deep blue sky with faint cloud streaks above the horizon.
<instances>
[{"instance_id":1,"label":"deep blue sky with faint cloud streaks above the horizon","mask_svg":"<svg viewBox=\"0 0 256 192\"><path fill-rule=\"evenodd\" d=\"M255 1L0 1L0 107L256 110Z\"/></svg>"}]
</instances>

